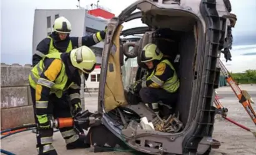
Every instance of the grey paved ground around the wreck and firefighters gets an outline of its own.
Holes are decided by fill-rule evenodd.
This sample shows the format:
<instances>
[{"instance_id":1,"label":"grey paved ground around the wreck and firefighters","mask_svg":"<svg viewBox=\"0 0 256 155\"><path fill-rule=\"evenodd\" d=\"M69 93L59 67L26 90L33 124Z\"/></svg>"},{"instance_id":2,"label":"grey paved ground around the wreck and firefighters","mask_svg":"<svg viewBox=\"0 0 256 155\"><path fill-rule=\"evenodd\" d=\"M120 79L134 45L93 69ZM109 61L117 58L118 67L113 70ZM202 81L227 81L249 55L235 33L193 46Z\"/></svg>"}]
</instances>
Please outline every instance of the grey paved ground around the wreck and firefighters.
<instances>
[{"instance_id":1,"label":"grey paved ground around the wreck and firefighters","mask_svg":"<svg viewBox=\"0 0 256 155\"><path fill-rule=\"evenodd\" d=\"M253 100L256 101L256 85L241 85L244 90L248 90ZM221 97L222 105L229 109L228 117L238 123L244 124L248 128L256 131L256 126L239 103L235 95L233 95L230 87L221 87L217 89L218 95ZM91 95L91 96L90 96ZM85 94L86 108L90 111L97 110L97 93ZM256 111L256 105L252 105ZM212 149L211 155L256 155L256 138L249 131L239 128L235 124L224 120L220 116L216 116L214 124L214 139L220 141L219 149ZM74 149L66 150L66 144L59 132L54 133L54 148L61 155L129 155L124 152L108 152L108 153L92 153L90 149ZM36 134L31 131L17 133L1 140L1 149L11 151L17 155L37 154L36 151ZM3 154L3 153L1 153Z\"/></svg>"}]
</instances>

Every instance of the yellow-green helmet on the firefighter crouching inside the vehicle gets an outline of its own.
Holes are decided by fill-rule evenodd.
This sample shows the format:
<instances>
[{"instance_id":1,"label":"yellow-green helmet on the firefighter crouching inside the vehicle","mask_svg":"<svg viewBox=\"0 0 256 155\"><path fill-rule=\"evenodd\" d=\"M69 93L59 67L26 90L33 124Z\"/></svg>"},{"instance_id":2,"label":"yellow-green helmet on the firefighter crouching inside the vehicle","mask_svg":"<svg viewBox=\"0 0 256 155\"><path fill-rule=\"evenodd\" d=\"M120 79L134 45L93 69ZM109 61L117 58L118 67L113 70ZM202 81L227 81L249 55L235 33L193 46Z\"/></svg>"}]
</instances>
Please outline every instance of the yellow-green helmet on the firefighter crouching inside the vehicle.
<instances>
[{"instance_id":1,"label":"yellow-green helmet on the firefighter crouching inside the vehicle","mask_svg":"<svg viewBox=\"0 0 256 155\"><path fill-rule=\"evenodd\" d=\"M155 44L147 44L142 49L141 62L150 62L152 60L161 60L164 54L157 48Z\"/></svg>"}]
</instances>

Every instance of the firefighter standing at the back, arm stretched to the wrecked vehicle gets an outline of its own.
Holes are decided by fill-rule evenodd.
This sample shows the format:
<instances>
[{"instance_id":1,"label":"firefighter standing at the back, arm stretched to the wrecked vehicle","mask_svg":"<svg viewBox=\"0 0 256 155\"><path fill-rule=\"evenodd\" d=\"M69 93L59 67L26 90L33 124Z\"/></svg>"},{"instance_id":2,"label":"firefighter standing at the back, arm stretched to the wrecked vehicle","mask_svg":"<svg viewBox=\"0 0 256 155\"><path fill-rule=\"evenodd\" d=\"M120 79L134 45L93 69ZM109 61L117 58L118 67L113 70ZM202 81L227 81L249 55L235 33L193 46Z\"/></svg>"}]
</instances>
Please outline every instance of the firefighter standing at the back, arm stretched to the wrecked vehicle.
<instances>
[{"instance_id":1,"label":"firefighter standing at the back, arm stretched to the wrecked vehicle","mask_svg":"<svg viewBox=\"0 0 256 155\"><path fill-rule=\"evenodd\" d=\"M32 57L34 67L45 55L53 52L70 52L72 49L86 45L91 47L105 39L106 31L84 37L69 37L71 23L65 17L59 17L54 21L52 33L43 39L36 47Z\"/></svg>"}]
</instances>

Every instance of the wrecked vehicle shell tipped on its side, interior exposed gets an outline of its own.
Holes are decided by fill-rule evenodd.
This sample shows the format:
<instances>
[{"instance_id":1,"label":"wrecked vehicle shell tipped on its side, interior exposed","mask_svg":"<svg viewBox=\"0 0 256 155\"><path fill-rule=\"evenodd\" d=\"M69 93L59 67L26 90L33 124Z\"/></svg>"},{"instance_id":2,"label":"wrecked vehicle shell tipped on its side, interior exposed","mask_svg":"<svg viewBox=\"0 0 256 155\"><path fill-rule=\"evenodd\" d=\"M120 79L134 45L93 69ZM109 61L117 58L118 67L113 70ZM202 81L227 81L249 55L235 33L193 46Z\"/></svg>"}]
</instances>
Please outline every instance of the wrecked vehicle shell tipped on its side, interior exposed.
<instances>
[{"instance_id":1,"label":"wrecked vehicle shell tipped on its side, interior exposed","mask_svg":"<svg viewBox=\"0 0 256 155\"><path fill-rule=\"evenodd\" d=\"M111 19L102 54L98 111L112 134L147 154L210 153L218 61L221 50L229 49L229 31L236 21L230 7L223 0L139 0ZM122 24L134 19L147 27L122 31ZM143 35L121 38L134 34ZM132 83L125 84L124 55L126 60L137 58L135 80L139 80L145 71L140 54L149 43L162 47L179 74L179 97L167 119L140 102L130 89ZM149 124L152 128L146 129Z\"/></svg>"}]
</instances>

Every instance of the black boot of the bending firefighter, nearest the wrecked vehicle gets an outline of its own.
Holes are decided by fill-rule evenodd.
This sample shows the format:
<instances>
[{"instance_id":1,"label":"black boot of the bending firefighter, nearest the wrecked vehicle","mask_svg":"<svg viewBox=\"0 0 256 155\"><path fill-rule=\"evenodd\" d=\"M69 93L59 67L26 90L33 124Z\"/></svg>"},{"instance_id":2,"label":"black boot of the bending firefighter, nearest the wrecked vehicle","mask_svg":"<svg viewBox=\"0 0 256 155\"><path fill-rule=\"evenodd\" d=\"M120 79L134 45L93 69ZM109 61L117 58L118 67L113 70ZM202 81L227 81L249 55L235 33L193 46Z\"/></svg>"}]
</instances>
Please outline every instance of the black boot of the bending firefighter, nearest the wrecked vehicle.
<instances>
[{"instance_id":1,"label":"black boot of the bending firefighter, nearest the wrecked vehicle","mask_svg":"<svg viewBox=\"0 0 256 155\"><path fill-rule=\"evenodd\" d=\"M86 136L80 134L79 139L66 145L67 149L90 148L90 144L86 143Z\"/></svg>"}]
</instances>

